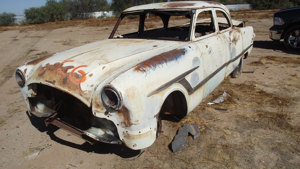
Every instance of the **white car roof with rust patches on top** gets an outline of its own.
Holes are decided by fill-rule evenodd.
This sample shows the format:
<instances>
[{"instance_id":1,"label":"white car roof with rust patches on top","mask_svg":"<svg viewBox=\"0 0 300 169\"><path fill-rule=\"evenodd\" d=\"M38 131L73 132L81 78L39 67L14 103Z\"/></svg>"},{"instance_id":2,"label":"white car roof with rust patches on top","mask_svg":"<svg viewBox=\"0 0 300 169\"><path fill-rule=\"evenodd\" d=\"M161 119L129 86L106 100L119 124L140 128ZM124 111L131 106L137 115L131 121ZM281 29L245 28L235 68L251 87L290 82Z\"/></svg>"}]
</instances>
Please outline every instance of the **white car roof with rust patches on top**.
<instances>
[{"instance_id":1,"label":"white car roof with rust patches on top","mask_svg":"<svg viewBox=\"0 0 300 169\"><path fill-rule=\"evenodd\" d=\"M172 10L172 9L201 9L201 8L211 8L217 7L224 9L229 13L228 9L218 2L212 1L177 1L177 2L162 2L154 4L146 4L134 6L128 9L125 9L122 13L133 12L133 11L143 11L147 9L156 9L156 10Z\"/></svg>"}]
</instances>

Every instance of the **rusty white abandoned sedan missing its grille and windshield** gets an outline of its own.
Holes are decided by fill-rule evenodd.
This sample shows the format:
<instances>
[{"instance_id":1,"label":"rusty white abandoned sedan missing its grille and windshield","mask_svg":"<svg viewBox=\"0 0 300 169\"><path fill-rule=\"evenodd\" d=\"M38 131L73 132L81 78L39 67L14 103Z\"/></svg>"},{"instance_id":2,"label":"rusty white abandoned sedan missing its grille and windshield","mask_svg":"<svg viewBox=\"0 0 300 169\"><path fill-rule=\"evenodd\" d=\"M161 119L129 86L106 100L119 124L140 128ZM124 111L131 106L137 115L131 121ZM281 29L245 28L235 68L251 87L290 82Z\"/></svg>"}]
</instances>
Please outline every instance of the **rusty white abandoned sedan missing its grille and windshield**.
<instances>
[{"instance_id":1,"label":"rusty white abandoned sedan missing its grille and windshield","mask_svg":"<svg viewBox=\"0 0 300 169\"><path fill-rule=\"evenodd\" d=\"M16 81L46 125L143 149L161 132L160 114L187 115L240 73L254 36L217 2L140 5L121 13L108 39L29 61Z\"/></svg>"}]
</instances>

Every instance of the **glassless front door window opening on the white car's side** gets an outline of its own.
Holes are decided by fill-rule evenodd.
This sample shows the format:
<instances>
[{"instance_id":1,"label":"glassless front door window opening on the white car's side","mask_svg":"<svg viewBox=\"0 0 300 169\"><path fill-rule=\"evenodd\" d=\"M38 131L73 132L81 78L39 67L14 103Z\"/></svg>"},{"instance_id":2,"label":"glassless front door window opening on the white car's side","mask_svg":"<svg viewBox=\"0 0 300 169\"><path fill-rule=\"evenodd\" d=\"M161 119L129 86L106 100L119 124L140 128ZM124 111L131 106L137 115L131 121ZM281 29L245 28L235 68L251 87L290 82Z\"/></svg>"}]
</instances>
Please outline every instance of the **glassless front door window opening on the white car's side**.
<instances>
[{"instance_id":1,"label":"glassless front door window opening on the white car's side","mask_svg":"<svg viewBox=\"0 0 300 169\"><path fill-rule=\"evenodd\" d=\"M212 11L200 12L196 18L195 37L201 37L216 32Z\"/></svg>"}]
</instances>

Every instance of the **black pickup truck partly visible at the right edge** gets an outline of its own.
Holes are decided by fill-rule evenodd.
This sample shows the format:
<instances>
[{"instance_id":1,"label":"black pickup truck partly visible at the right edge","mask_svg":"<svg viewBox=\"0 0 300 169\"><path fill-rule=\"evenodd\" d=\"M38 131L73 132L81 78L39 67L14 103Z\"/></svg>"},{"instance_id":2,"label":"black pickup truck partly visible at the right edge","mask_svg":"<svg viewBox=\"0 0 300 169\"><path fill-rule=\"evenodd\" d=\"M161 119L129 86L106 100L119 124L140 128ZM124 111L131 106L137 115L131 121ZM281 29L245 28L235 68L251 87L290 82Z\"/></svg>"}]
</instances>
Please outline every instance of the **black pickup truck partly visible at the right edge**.
<instances>
[{"instance_id":1,"label":"black pickup truck partly visible at the right edge","mask_svg":"<svg viewBox=\"0 0 300 169\"><path fill-rule=\"evenodd\" d=\"M275 12L273 23L269 29L270 38L273 41L283 39L286 48L300 51L300 6Z\"/></svg>"}]
</instances>

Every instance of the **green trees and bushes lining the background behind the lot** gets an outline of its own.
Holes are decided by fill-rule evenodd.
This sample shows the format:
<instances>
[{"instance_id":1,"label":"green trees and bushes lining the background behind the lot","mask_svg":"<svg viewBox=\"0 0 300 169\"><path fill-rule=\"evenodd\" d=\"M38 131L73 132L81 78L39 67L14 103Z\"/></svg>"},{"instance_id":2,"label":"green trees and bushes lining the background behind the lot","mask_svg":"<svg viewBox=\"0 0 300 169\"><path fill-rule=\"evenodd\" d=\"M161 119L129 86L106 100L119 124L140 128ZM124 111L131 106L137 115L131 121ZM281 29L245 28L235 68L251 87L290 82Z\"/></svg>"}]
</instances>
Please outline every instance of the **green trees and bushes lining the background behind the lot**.
<instances>
[{"instance_id":1,"label":"green trees and bushes lining the background behind the lot","mask_svg":"<svg viewBox=\"0 0 300 169\"><path fill-rule=\"evenodd\" d=\"M168 0L47 0L41 7L31 7L24 10L26 21L24 24L46 23L66 19L78 20L91 17L92 12L115 11L116 17L126 8L165 2ZM182 0L172 0L182 1ZM254 9L282 9L300 6L300 0L213 0L224 5L251 4ZM0 26L13 24L16 15L3 12L0 14ZM68 17L68 18L67 18Z\"/></svg>"}]
</instances>

